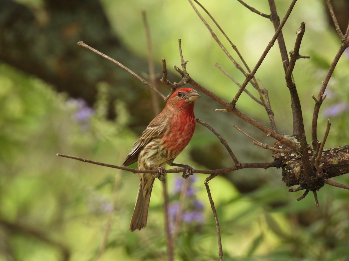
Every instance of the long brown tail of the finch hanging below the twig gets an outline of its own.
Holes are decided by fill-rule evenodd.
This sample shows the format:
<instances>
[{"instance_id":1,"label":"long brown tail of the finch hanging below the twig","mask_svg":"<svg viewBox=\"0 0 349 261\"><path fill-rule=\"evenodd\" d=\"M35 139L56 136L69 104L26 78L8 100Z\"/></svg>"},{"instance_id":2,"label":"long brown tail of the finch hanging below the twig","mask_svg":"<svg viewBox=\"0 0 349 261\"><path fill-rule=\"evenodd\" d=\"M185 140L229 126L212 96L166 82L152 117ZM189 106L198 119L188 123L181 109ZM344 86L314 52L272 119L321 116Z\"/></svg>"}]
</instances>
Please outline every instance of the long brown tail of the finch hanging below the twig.
<instances>
[{"instance_id":1,"label":"long brown tail of the finch hanging below the twig","mask_svg":"<svg viewBox=\"0 0 349 261\"><path fill-rule=\"evenodd\" d=\"M147 226L149 201L155 177L151 173L140 174L139 188L131 217L130 230L133 232Z\"/></svg>"}]
</instances>

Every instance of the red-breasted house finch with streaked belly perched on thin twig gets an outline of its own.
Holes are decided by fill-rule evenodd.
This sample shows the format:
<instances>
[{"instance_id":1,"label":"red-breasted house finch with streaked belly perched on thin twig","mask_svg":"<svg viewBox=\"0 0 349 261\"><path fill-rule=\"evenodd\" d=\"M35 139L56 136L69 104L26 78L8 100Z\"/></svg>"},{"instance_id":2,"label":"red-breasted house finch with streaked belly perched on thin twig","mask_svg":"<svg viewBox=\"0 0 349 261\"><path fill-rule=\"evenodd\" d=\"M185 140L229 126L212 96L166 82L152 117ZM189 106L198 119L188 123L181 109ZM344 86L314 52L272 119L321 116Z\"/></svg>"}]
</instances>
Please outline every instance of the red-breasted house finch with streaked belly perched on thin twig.
<instances>
[{"instance_id":1,"label":"red-breasted house finch with streaked belly perched on thin twig","mask_svg":"<svg viewBox=\"0 0 349 261\"><path fill-rule=\"evenodd\" d=\"M159 174L188 145L195 129L194 103L200 94L193 88L176 90L168 99L165 108L139 136L123 166L138 161L138 169L158 169ZM155 176L141 173L136 205L131 218L130 230L141 230L147 225L149 201Z\"/></svg>"}]
</instances>

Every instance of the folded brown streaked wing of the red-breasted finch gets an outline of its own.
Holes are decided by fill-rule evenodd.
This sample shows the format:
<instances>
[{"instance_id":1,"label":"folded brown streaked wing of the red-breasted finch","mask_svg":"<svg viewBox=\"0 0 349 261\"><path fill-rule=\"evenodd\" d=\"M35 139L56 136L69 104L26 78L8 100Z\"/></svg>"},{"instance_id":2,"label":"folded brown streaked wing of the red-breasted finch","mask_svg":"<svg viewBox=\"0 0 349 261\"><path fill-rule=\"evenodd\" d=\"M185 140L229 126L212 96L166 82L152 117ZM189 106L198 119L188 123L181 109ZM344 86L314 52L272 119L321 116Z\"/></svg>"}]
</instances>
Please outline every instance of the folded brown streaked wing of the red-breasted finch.
<instances>
[{"instance_id":1,"label":"folded brown streaked wing of the red-breasted finch","mask_svg":"<svg viewBox=\"0 0 349 261\"><path fill-rule=\"evenodd\" d=\"M168 124L168 119L164 119L159 114L155 117L148 125L148 127L142 132L141 136L139 136L138 140L136 140L133 145L130 153L125 159L123 166L128 166L135 163L138 160L139 152L142 148L147 145L151 140L156 137L159 137L163 130L165 129L166 124Z\"/></svg>"}]
</instances>

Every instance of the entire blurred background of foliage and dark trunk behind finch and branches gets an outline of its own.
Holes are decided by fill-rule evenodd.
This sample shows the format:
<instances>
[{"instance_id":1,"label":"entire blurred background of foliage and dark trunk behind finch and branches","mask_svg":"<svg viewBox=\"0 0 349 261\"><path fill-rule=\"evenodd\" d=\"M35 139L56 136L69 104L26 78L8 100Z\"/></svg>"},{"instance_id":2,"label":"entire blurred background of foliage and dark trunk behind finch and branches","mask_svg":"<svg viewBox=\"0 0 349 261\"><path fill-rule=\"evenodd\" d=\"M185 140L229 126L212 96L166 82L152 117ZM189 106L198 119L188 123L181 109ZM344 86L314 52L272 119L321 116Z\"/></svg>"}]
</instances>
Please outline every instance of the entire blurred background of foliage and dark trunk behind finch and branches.
<instances>
[{"instance_id":1,"label":"entire blurred background of foliage and dark trunk behind finch and branches","mask_svg":"<svg viewBox=\"0 0 349 261\"><path fill-rule=\"evenodd\" d=\"M267 1L246 2L270 13ZM282 18L290 1L275 2ZM253 68L274 34L272 23L237 1L201 3ZM346 28L349 1L333 3ZM0 1L1 261L166 260L160 181L153 188L147 228L131 233L128 226L138 175L56 156L62 153L120 165L154 117L148 87L76 45L82 40L147 79L142 9L147 13L159 77L165 57L169 79L179 81L172 66L180 65L181 38L191 77L231 101L237 86L215 63L240 83L245 77L187 1ZM294 77L310 134L311 95L317 96L340 41L323 1L299 1L283 29L289 50L302 21L306 33L300 54L311 59L297 61ZM222 35L218 37L238 60ZM277 45L270 50L256 78L268 90L279 133L291 134L289 91L278 50ZM327 119L332 122L325 148L349 143L348 72L346 53L329 82L320 111L320 140ZM160 83L158 88L169 93ZM163 108L164 102L160 105ZM259 106L245 94L237 103L238 109L269 126ZM262 143L272 145L272 138L233 115L214 112L217 108L219 104L202 97L195 116L220 132L239 161L273 160L270 151L253 146L232 125ZM307 139L310 142L310 136ZM219 140L201 125L196 126L192 141L176 162L199 169L233 165ZM175 260L218 259L215 222L203 184L207 176L195 174L188 179ZM173 229L184 180L180 174L169 174L166 179ZM349 184L348 175L335 180ZM224 260L349 260L348 191L325 185L318 192L317 208L312 195L296 201L303 192L289 193L280 169L244 169L217 176L209 185L220 221Z\"/></svg>"}]
</instances>

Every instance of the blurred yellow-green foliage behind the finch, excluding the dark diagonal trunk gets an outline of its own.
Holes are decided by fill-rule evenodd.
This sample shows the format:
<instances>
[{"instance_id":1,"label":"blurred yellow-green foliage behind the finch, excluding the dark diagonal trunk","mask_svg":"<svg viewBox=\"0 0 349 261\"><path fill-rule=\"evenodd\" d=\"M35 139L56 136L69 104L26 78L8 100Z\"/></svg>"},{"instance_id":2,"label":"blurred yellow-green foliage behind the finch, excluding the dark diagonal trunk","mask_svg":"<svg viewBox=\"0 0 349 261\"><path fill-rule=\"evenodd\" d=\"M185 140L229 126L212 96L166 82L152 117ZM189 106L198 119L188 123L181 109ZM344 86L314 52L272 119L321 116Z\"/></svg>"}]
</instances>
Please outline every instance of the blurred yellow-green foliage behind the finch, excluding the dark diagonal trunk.
<instances>
[{"instance_id":1,"label":"blurred yellow-green foliage behind the finch, excluding the dark diagonal trunk","mask_svg":"<svg viewBox=\"0 0 349 261\"><path fill-rule=\"evenodd\" d=\"M282 1L276 2L282 17L287 7ZM122 41L139 55L146 56L140 15L143 7L148 11L158 61L164 56L169 65L179 64L177 38L182 38L191 76L227 100L235 94L236 87L214 68L215 62L232 68L230 62L186 2L179 5L177 1L132 1L131 4L104 0L103 3ZM262 18L233 1L221 5L213 1L202 3L253 65L273 34L271 24L261 23ZM268 13L266 1L254 1L251 5ZM307 22L301 54L310 54L312 59L297 62L294 76L308 130L313 108L310 95L317 95L339 47L335 33L328 30L324 19L320 1L299 3L284 30L291 49L293 32L300 22ZM318 35L323 40L321 44L314 43ZM269 90L280 132L289 132L291 121L285 121L290 117L289 94L275 47L257 77ZM348 58L343 57L329 86L332 95L324 108L348 103L348 69ZM237 74L237 80L243 79L235 68L230 73ZM138 189L138 175L55 156L63 153L116 165L123 162L138 134L127 128L132 115L124 109L122 101L115 101L118 118L105 119L107 88L110 86L101 82L98 102L91 111L82 101L57 94L39 79L0 65L0 261L61 260L65 251L74 261L96 260L113 209L115 178L120 182L102 260L166 259L162 187L158 180L147 228L131 233L128 222ZM245 96L238 106L248 114L266 119L265 112L256 110ZM349 143L346 114L344 110L331 116L333 124L326 147ZM321 117L319 128L324 132L327 118L322 114ZM321 133L320 130L319 137ZM198 139L194 135L192 143L200 146L205 140L214 139L212 134L207 135ZM239 146L246 144L236 145ZM259 148L253 149L264 153ZM238 151L234 152L239 155ZM200 168L190 160L188 150L177 161ZM270 182L246 195L219 176L210 181L221 226L224 260L348 260L348 191L325 186L318 193L320 208L317 208L311 195L296 201L300 194L287 192L279 170L271 173ZM246 182L250 179L248 169L232 175L244 176ZM166 177L170 191L173 176ZM197 176L194 186L198 190L196 197L205 207L205 223L201 227L185 227L176 242L175 260L218 259L215 222L203 185L206 176ZM348 175L335 180L349 184Z\"/></svg>"}]
</instances>

